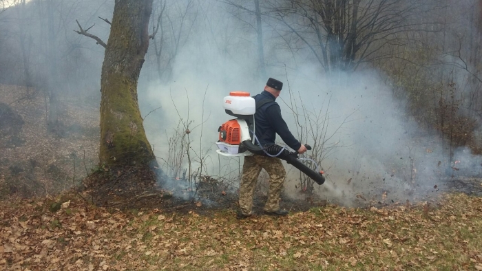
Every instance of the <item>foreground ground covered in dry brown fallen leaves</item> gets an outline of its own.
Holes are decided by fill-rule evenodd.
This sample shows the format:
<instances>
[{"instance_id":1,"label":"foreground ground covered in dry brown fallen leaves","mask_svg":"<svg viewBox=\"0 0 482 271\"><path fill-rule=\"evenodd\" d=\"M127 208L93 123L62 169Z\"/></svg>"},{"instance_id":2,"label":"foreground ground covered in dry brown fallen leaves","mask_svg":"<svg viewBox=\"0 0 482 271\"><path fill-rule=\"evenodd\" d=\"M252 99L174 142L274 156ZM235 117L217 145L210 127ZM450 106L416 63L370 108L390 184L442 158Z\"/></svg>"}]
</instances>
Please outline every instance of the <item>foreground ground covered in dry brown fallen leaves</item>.
<instances>
[{"instance_id":1,"label":"foreground ground covered in dry brown fallen leaves","mask_svg":"<svg viewBox=\"0 0 482 271\"><path fill-rule=\"evenodd\" d=\"M59 207L52 209L52 204ZM96 207L75 193L0 202L3 270L481 270L482 199L327 205L235 219Z\"/></svg>"}]
</instances>

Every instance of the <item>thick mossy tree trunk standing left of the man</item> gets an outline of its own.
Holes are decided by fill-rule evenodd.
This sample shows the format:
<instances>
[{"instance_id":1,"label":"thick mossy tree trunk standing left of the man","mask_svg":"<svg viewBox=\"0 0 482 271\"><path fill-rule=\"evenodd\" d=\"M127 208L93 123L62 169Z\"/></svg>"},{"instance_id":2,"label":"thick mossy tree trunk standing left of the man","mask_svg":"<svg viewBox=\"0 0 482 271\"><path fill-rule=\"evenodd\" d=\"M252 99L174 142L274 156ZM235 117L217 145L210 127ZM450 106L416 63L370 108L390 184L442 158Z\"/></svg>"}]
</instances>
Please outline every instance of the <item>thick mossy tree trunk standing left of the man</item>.
<instances>
[{"instance_id":1,"label":"thick mossy tree trunk standing left of the man","mask_svg":"<svg viewBox=\"0 0 482 271\"><path fill-rule=\"evenodd\" d=\"M101 78L101 164L141 166L155 161L137 101L149 46L153 0L116 0Z\"/></svg>"}]
</instances>

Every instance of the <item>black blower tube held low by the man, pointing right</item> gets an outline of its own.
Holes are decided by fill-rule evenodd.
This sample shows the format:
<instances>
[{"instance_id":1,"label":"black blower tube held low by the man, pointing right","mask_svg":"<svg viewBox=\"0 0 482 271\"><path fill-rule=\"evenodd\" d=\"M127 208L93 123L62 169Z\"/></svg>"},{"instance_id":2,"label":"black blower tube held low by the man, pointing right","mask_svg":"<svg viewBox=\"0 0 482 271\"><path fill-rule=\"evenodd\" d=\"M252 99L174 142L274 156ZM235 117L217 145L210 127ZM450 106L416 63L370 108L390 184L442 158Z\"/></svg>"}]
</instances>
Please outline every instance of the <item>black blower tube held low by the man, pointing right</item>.
<instances>
[{"instance_id":1,"label":"black blower tube held low by the man, pointing right","mask_svg":"<svg viewBox=\"0 0 482 271\"><path fill-rule=\"evenodd\" d=\"M295 168L306 174L306 176L311 177L311 179L317 184L321 185L325 182L325 177L321 173L313 171L313 169L310 169L308 166L306 166L297 159L297 153L290 153L288 150L276 144L271 145L270 147L266 147L264 149L256 146L249 140L243 141L242 144L244 145L244 147L246 147L246 149L248 149L248 151L258 155L264 155L264 152L271 155L276 155L277 153L280 153L279 155L277 155L277 158L285 160L288 164L292 164Z\"/></svg>"}]
</instances>

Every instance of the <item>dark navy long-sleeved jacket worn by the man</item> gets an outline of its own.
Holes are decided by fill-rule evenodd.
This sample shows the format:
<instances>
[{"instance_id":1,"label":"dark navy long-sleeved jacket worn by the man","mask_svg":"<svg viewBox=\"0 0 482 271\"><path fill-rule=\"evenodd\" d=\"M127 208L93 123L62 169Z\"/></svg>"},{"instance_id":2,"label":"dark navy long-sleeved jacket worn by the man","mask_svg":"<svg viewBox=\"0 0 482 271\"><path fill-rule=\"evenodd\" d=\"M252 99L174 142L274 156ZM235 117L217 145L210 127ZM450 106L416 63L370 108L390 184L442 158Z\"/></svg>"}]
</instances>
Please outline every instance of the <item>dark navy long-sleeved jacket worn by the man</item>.
<instances>
[{"instance_id":1,"label":"dark navy long-sleeved jacket worn by the man","mask_svg":"<svg viewBox=\"0 0 482 271\"><path fill-rule=\"evenodd\" d=\"M256 105L260 105L265 100L269 100L260 108L256 109L255 133L262 146L275 144L276 133L291 149L297 151L301 147L301 143L291 134L288 125L281 116L280 105L275 102L276 98L268 91L254 96ZM258 107L258 106L256 106Z\"/></svg>"}]
</instances>

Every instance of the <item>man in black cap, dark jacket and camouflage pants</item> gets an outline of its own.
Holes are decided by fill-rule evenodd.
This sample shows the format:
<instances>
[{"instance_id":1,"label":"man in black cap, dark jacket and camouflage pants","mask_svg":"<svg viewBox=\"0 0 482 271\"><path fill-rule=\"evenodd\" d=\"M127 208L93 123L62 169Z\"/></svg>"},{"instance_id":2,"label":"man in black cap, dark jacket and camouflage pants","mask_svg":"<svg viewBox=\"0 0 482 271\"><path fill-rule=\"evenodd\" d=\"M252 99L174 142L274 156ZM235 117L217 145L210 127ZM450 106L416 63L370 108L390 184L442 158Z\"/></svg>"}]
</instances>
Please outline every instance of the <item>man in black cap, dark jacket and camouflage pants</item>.
<instances>
[{"instance_id":1,"label":"man in black cap, dark jacket and camouflage pants","mask_svg":"<svg viewBox=\"0 0 482 271\"><path fill-rule=\"evenodd\" d=\"M267 147L275 144L277 133L291 149L295 149L302 154L306 151L306 147L289 131L281 116L280 105L275 102L276 98L280 96L282 87L282 82L269 78L264 91L254 97L256 101L254 115L256 138L258 138L262 147ZM264 206L264 213L275 216L288 215L287 210L280 209L280 193L286 177L286 171L280 158L272 158L267 155L249 155L244 158L242 167L238 219L244 219L252 215L253 193L261 169L269 174L269 195Z\"/></svg>"}]
</instances>

